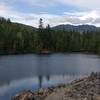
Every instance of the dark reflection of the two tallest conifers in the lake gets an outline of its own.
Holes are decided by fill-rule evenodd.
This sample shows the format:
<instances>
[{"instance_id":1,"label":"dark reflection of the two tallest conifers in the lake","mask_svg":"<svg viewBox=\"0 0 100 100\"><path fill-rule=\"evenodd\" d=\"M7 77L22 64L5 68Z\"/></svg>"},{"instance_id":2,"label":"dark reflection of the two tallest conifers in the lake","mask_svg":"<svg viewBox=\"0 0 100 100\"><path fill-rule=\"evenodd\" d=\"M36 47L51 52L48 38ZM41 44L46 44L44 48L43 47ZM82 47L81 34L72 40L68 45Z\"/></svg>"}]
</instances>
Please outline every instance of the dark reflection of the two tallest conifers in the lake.
<instances>
[{"instance_id":1,"label":"dark reflection of the two tallest conifers in the lake","mask_svg":"<svg viewBox=\"0 0 100 100\"><path fill-rule=\"evenodd\" d=\"M40 55L38 57L37 75L39 80L39 88L42 87L43 77L50 80L50 57L49 55Z\"/></svg>"}]
</instances>

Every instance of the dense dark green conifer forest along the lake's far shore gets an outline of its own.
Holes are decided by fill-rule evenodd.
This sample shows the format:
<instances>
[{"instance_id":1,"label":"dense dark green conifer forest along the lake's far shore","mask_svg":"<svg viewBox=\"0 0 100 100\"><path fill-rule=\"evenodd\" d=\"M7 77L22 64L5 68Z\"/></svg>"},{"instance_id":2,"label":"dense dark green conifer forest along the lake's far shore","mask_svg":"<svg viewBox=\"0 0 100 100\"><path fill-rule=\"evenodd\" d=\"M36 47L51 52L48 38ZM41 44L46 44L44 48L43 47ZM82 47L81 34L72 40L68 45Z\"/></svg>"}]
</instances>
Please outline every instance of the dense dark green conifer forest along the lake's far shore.
<instances>
[{"instance_id":1,"label":"dense dark green conifer forest along the lake's far shore","mask_svg":"<svg viewBox=\"0 0 100 100\"><path fill-rule=\"evenodd\" d=\"M100 31L77 32L39 28L12 23L0 18L0 54L51 52L89 52L100 54Z\"/></svg>"}]
</instances>

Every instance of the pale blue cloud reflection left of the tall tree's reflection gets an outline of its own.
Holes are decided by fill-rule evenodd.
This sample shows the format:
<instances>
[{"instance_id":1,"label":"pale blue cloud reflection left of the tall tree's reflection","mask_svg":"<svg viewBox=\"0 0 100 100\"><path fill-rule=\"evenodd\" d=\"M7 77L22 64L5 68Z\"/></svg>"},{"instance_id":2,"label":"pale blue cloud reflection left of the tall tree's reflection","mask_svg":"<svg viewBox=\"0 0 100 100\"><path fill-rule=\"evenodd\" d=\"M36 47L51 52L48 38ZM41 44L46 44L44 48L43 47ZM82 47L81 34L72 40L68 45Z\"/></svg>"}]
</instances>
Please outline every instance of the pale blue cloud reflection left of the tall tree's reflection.
<instances>
[{"instance_id":1,"label":"pale blue cloud reflection left of the tall tree's reflection","mask_svg":"<svg viewBox=\"0 0 100 100\"><path fill-rule=\"evenodd\" d=\"M16 89L21 90L22 88L25 88L27 86L34 86L35 84L38 84L37 78L27 78L22 80L14 80L11 81L9 84L4 84L0 86L0 96L3 96L5 94L8 94L10 92L13 92ZM22 89L23 90L23 89Z\"/></svg>"}]
</instances>

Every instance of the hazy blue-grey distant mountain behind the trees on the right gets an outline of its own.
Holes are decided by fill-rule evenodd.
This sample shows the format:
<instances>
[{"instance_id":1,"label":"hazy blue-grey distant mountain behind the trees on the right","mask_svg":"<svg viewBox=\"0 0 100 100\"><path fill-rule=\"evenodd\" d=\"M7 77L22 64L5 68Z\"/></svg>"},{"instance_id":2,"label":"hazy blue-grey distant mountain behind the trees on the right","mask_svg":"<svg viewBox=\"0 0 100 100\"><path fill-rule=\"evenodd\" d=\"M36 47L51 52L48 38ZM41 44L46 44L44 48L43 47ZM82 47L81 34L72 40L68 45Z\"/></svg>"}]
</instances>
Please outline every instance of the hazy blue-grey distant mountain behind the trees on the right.
<instances>
[{"instance_id":1,"label":"hazy blue-grey distant mountain behind the trees on the right","mask_svg":"<svg viewBox=\"0 0 100 100\"><path fill-rule=\"evenodd\" d=\"M55 27L52 27L52 29L55 30L67 30L67 31L78 31L78 32L87 32L87 31L97 31L99 30L98 27L93 26L93 25L78 25L78 26L74 26L74 25L58 25Z\"/></svg>"}]
</instances>

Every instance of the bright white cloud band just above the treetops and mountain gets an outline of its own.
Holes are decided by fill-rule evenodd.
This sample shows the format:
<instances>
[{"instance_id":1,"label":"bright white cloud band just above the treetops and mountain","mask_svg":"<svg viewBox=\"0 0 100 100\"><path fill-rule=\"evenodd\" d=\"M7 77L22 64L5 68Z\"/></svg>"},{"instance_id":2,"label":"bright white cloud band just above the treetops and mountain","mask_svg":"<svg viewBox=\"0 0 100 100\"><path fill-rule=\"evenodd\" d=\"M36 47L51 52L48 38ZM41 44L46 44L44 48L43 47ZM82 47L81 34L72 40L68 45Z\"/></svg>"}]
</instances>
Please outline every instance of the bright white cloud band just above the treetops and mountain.
<instances>
[{"instance_id":1,"label":"bright white cloud band just above the treetops and mountain","mask_svg":"<svg viewBox=\"0 0 100 100\"><path fill-rule=\"evenodd\" d=\"M43 18L44 26L50 24L56 26L58 24L92 24L100 25L100 12L97 10L85 12L63 12L62 14L44 13L22 13L15 11L12 6L6 3L0 3L0 16L10 18L13 22L23 23L38 27L38 20Z\"/></svg>"}]
</instances>

